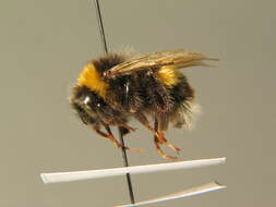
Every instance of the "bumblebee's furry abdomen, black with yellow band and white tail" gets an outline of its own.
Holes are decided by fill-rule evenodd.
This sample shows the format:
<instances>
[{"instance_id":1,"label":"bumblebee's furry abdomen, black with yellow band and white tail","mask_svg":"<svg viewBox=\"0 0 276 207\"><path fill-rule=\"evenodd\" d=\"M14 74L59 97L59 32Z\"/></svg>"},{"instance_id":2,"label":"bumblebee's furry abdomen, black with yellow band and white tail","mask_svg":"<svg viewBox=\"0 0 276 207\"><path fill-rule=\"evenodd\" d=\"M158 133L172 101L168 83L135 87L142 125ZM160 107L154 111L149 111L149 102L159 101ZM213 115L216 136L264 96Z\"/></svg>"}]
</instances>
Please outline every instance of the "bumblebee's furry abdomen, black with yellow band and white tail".
<instances>
[{"instance_id":1,"label":"bumblebee's furry abdomen, black with yellow band and white tail","mask_svg":"<svg viewBox=\"0 0 276 207\"><path fill-rule=\"evenodd\" d=\"M160 78L158 73L148 73L140 80L142 111L153 115L165 113L175 126L191 129L194 117L200 112L194 101L194 89L180 72L167 77L161 75Z\"/></svg>"}]
</instances>

